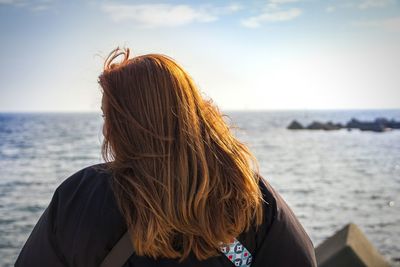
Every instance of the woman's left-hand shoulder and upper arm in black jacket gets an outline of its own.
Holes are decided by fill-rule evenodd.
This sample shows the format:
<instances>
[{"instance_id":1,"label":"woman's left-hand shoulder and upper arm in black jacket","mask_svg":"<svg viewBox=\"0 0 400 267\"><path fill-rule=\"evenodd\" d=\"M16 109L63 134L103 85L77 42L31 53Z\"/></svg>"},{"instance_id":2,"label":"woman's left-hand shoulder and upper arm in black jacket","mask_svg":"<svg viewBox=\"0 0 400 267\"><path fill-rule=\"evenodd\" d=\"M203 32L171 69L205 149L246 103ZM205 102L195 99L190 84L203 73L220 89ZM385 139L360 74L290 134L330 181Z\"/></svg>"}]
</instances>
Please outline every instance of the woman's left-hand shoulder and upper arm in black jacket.
<instances>
[{"instance_id":1,"label":"woman's left-hand shoulder and upper arm in black jacket","mask_svg":"<svg viewBox=\"0 0 400 267\"><path fill-rule=\"evenodd\" d=\"M126 231L111 180L105 164L88 166L65 179L35 225L16 266L99 266Z\"/></svg>"}]
</instances>

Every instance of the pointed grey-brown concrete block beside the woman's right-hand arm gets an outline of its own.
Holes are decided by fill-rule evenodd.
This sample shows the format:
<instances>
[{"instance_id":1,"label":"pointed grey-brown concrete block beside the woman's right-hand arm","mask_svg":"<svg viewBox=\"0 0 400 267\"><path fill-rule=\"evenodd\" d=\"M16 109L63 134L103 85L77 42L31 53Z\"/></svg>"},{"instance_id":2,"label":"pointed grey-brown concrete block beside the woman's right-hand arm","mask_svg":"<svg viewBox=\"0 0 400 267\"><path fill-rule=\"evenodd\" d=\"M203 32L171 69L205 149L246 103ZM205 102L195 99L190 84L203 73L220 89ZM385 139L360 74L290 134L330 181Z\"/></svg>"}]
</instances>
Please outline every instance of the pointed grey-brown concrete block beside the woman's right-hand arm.
<instances>
[{"instance_id":1,"label":"pointed grey-brown concrete block beside the woman's right-hand arm","mask_svg":"<svg viewBox=\"0 0 400 267\"><path fill-rule=\"evenodd\" d=\"M320 244L315 253L319 267L389 266L357 225L352 223Z\"/></svg>"}]
</instances>

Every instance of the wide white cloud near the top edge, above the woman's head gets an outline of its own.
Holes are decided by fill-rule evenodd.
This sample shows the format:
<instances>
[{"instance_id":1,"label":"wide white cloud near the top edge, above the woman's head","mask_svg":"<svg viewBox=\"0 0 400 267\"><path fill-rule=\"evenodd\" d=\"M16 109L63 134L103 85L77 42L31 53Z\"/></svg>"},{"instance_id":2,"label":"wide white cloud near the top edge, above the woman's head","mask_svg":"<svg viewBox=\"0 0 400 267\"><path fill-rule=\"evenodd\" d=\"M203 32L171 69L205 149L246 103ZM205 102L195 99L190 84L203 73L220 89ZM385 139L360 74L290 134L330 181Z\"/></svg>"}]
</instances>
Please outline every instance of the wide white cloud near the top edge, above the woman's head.
<instances>
[{"instance_id":1,"label":"wide white cloud near the top edge, above the woman's head","mask_svg":"<svg viewBox=\"0 0 400 267\"><path fill-rule=\"evenodd\" d=\"M115 22L133 21L141 27L175 27L193 22L207 23L218 20L220 15L236 12L240 5L223 7L173 4L104 4L102 11Z\"/></svg>"}]
</instances>

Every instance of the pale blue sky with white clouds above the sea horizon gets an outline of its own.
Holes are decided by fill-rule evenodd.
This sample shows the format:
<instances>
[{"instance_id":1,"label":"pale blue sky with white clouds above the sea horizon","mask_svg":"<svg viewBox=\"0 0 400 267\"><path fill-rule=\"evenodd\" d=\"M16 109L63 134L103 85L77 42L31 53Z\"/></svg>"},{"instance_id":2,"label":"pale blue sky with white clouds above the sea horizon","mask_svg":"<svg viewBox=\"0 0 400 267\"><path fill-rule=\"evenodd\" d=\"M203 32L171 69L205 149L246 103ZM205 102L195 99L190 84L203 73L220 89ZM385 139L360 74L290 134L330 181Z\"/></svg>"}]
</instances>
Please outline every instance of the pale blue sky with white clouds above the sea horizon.
<instances>
[{"instance_id":1,"label":"pale blue sky with white clouds above the sea horizon","mask_svg":"<svg viewBox=\"0 0 400 267\"><path fill-rule=\"evenodd\" d=\"M0 112L99 111L117 46L222 110L400 108L399 0L0 0L0 34Z\"/></svg>"}]
</instances>

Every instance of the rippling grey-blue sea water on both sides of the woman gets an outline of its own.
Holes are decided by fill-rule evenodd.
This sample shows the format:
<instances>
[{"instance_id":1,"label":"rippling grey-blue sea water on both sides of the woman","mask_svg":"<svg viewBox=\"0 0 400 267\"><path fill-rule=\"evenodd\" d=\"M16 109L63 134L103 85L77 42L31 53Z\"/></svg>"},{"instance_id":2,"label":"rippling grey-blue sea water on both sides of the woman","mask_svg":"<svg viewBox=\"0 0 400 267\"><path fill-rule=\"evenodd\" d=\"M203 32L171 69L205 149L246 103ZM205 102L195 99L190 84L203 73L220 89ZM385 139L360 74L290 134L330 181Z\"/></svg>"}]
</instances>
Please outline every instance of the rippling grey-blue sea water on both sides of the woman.
<instances>
[{"instance_id":1,"label":"rippling grey-blue sea water on both sides of the woman","mask_svg":"<svg viewBox=\"0 0 400 267\"><path fill-rule=\"evenodd\" d=\"M296 119L400 120L400 110L225 112L317 246L356 223L400 258L400 130L291 131ZM0 266L11 266L56 187L102 162L100 114L0 114Z\"/></svg>"}]
</instances>

